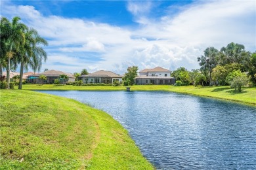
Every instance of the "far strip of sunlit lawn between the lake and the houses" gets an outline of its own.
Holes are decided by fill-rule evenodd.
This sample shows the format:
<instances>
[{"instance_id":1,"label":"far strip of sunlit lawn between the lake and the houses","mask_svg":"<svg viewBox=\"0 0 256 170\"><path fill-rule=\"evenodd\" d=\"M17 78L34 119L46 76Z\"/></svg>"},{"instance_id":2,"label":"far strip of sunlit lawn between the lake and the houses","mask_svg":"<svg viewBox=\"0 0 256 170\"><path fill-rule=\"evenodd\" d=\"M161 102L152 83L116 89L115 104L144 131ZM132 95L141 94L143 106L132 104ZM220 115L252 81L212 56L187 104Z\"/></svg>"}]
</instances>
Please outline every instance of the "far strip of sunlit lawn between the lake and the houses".
<instances>
[{"instance_id":1,"label":"far strip of sunlit lawn between the lake and the houses","mask_svg":"<svg viewBox=\"0 0 256 170\"><path fill-rule=\"evenodd\" d=\"M125 90L123 86L62 86L54 84L25 84L24 90ZM194 87L194 86L169 86L169 85L135 85L131 90L163 90L168 92L188 93L205 97L215 97L236 101L247 105L256 106L256 88L242 88L242 93L231 89L229 86Z\"/></svg>"}]
</instances>

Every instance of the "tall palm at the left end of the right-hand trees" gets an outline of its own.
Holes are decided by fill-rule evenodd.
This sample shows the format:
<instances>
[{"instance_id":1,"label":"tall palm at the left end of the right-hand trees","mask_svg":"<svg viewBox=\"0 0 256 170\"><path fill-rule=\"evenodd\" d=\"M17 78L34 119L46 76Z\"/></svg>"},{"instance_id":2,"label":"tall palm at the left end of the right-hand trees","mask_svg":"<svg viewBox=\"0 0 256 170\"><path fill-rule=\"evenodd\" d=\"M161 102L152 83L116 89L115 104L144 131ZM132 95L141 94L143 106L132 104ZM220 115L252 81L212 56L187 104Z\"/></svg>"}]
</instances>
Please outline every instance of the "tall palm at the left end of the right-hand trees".
<instances>
[{"instance_id":1,"label":"tall palm at the left end of the right-hand trees","mask_svg":"<svg viewBox=\"0 0 256 170\"><path fill-rule=\"evenodd\" d=\"M209 78L210 78L209 82L210 82L210 86L212 86L213 82L211 78L211 73L213 72L214 67L216 67L217 65L219 50L211 46L206 48L203 52L204 52L204 55L201 57L198 57L199 65L201 66L200 70L204 73L207 73L209 71Z\"/></svg>"}]
</instances>

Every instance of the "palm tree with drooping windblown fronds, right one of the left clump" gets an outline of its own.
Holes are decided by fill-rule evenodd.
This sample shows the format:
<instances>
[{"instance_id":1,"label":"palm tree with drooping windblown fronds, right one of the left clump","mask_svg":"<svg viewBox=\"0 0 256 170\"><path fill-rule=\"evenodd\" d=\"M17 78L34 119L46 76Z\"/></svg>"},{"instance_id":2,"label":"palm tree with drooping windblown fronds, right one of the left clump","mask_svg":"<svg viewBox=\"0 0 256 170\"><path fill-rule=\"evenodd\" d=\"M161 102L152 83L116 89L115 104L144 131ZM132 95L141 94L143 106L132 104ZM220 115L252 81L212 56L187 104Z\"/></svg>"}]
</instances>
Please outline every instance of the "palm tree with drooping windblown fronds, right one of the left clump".
<instances>
[{"instance_id":1,"label":"palm tree with drooping windblown fronds, right one of the left clump","mask_svg":"<svg viewBox=\"0 0 256 170\"><path fill-rule=\"evenodd\" d=\"M28 67L32 67L33 71L41 69L42 60L46 61L47 53L38 44L48 45L47 41L40 37L35 29L28 29L25 32L26 41L24 46L19 52L20 61L20 77L23 76L24 68L28 70ZM18 89L22 89L22 78L20 78L20 84Z\"/></svg>"}]
</instances>

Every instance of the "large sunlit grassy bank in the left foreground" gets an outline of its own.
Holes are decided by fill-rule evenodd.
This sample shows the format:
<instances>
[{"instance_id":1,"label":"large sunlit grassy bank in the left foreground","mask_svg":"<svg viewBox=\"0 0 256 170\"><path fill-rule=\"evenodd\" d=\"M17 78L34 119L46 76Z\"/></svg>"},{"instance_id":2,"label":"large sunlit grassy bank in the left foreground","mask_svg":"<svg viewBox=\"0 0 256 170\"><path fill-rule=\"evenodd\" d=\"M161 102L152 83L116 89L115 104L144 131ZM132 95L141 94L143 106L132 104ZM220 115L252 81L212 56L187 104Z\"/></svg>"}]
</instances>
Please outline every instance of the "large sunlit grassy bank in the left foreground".
<instances>
[{"instance_id":1,"label":"large sunlit grassy bank in the left foreground","mask_svg":"<svg viewBox=\"0 0 256 170\"><path fill-rule=\"evenodd\" d=\"M45 93L0 95L1 169L153 169L105 112Z\"/></svg>"}]
</instances>

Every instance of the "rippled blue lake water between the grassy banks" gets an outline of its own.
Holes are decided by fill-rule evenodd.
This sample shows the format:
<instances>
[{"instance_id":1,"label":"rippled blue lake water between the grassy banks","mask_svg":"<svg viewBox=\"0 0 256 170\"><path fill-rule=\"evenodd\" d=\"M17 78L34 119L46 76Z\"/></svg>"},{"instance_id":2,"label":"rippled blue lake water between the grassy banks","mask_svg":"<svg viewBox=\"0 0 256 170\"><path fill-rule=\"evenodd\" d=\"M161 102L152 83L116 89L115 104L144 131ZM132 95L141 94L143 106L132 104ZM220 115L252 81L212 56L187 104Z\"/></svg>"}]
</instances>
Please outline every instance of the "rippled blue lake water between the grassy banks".
<instances>
[{"instance_id":1,"label":"rippled blue lake water between the grassy banks","mask_svg":"<svg viewBox=\"0 0 256 170\"><path fill-rule=\"evenodd\" d=\"M256 169L256 109L171 92L41 91L102 109L157 169Z\"/></svg>"}]
</instances>

